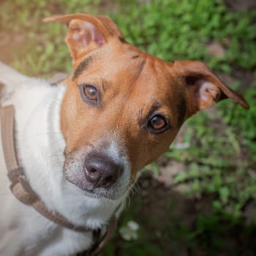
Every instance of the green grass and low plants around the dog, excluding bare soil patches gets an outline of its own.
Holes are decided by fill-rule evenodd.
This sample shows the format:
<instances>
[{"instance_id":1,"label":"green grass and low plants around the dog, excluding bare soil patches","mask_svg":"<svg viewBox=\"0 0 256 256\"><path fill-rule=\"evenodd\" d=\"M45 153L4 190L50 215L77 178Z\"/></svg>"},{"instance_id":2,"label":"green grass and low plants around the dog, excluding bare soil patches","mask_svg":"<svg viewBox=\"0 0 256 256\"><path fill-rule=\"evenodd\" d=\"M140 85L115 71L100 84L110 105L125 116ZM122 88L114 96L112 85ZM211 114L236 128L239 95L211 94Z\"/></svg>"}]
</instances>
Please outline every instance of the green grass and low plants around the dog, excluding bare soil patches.
<instances>
[{"instance_id":1,"label":"green grass and low plants around the dog, excluding bare soil patches","mask_svg":"<svg viewBox=\"0 0 256 256\"><path fill-rule=\"evenodd\" d=\"M255 79L256 12L230 12L221 0L132 0L129 4L124 0L57 0L54 4L46 0L4 1L0 31L25 37L23 48L10 53L15 56L12 64L29 75L69 72L66 28L59 23L42 23L42 18L71 12L110 15L128 42L167 61L199 59L215 72L247 72ZM219 42L225 55L211 56L206 48L210 42ZM146 225L141 225L138 240L132 242L123 241L116 233L115 242L107 246L103 255L116 255L116 250L122 256L167 255L170 240L171 246L180 246L182 241L190 249L199 247L206 255L255 255L256 214L245 224L244 208L249 202L256 202L256 83L244 85L243 75L240 77L230 86L244 91L250 110L224 101L217 114L197 114L187 122L184 141L191 146L170 146L164 156L186 163L185 170L174 178L173 187L186 184L184 196L195 200L208 197L208 211L198 213L194 225L186 226L173 217L176 203L170 198L166 213L170 221L158 230L161 236L153 239ZM154 163L149 168L157 173L158 165ZM123 214L120 227L134 219L141 207L140 200L133 203ZM226 237L232 233L238 234L235 244Z\"/></svg>"}]
</instances>

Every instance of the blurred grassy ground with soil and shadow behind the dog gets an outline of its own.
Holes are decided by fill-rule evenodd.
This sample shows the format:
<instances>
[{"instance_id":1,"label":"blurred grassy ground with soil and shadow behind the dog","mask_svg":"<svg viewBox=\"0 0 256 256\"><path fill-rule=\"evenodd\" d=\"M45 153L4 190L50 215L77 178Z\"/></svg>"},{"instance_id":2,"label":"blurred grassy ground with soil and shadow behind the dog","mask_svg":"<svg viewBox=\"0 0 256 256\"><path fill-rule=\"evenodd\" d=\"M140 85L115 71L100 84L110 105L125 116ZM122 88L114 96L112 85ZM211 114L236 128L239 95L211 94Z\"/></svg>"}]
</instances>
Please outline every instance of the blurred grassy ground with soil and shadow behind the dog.
<instances>
[{"instance_id":1,"label":"blurred grassy ground with soil and shadow behind the dog","mask_svg":"<svg viewBox=\"0 0 256 256\"><path fill-rule=\"evenodd\" d=\"M255 0L0 0L0 60L27 75L70 72L56 14L108 15L128 42L205 61L250 109L223 101L187 121L143 170L102 256L256 255Z\"/></svg>"}]
</instances>

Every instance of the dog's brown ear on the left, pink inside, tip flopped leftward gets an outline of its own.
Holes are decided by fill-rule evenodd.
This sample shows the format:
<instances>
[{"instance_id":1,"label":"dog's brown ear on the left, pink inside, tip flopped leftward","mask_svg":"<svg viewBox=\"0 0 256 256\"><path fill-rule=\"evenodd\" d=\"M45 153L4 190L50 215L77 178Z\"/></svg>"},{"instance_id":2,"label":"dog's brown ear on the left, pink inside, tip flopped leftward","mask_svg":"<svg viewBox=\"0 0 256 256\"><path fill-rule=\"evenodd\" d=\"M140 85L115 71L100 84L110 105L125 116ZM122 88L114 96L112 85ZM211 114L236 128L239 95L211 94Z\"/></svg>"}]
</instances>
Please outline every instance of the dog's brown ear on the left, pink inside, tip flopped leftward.
<instances>
[{"instance_id":1,"label":"dog's brown ear on the left, pink inside, tip flopped leftward","mask_svg":"<svg viewBox=\"0 0 256 256\"><path fill-rule=\"evenodd\" d=\"M110 18L89 14L59 15L45 18L45 22L61 21L69 26L66 42L73 59L99 48L115 37L124 41L124 35Z\"/></svg>"}]
</instances>

